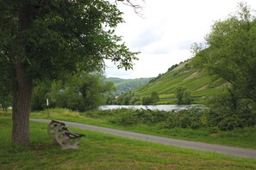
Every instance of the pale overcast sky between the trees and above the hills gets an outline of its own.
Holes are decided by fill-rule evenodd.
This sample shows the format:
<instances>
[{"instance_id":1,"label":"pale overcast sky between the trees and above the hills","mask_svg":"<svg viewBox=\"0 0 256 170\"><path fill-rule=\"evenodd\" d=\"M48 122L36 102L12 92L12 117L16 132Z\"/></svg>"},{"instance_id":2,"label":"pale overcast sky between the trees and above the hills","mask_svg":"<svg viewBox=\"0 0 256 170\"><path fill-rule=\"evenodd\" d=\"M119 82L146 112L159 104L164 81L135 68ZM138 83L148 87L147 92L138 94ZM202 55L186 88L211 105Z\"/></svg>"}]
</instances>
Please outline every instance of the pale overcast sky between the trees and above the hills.
<instances>
[{"instance_id":1,"label":"pale overcast sky between the trees and above the hills","mask_svg":"<svg viewBox=\"0 0 256 170\"><path fill-rule=\"evenodd\" d=\"M173 64L192 58L190 47L203 43L215 21L225 20L234 14L240 0L131 0L143 6L141 14L118 3L125 23L116 27L132 52L140 52L133 70L118 70L106 61L107 77L124 79L155 77L165 73ZM256 9L255 0L244 0ZM255 14L255 13L254 13Z\"/></svg>"}]
</instances>

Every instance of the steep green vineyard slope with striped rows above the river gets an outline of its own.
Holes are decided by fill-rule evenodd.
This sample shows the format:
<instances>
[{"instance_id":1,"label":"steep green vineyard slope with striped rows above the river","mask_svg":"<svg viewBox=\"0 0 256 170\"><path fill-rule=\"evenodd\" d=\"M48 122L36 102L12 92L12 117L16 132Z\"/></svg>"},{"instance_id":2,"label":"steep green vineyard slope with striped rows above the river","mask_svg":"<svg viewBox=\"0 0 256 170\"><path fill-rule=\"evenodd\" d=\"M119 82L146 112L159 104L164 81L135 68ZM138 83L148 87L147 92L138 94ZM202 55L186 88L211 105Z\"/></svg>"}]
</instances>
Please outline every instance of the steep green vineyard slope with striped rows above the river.
<instances>
[{"instance_id":1,"label":"steep green vineyard slope with striped rows above the river","mask_svg":"<svg viewBox=\"0 0 256 170\"><path fill-rule=\"evenodd\" d=\"M206 70L191 67L191 59L181 64L173 65L165 74L159 75L134 93L140 98L150 96L152 92L159 94L159 104L175 103L175 90L185 87L190 90L195 103L202 103L204 97L218 93L222 89L222 80L213 80Z\"/></svg>"}]
</instances>

